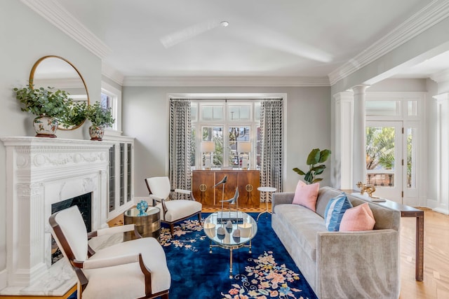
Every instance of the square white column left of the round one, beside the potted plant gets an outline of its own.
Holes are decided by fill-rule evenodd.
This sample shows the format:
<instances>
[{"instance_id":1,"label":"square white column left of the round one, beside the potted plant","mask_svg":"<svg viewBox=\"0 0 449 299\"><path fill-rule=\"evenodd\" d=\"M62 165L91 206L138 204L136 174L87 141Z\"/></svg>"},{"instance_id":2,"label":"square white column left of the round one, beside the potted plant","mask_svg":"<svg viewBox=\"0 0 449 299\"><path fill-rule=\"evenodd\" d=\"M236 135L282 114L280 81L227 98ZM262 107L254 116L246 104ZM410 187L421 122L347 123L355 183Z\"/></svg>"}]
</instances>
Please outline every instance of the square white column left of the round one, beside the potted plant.
<instances>
[{"instance_id":1,"label":"square white column left of the round one, beside the potted plant","mask_svg":"<svg viewBox=\"0 0 449 299\"><path fill-rule=\"evenodd\" d=\"M352 189L352 151L354 130L353 92L339 92L335 98L335 188Z\"/></svg>"}]
</instances>

